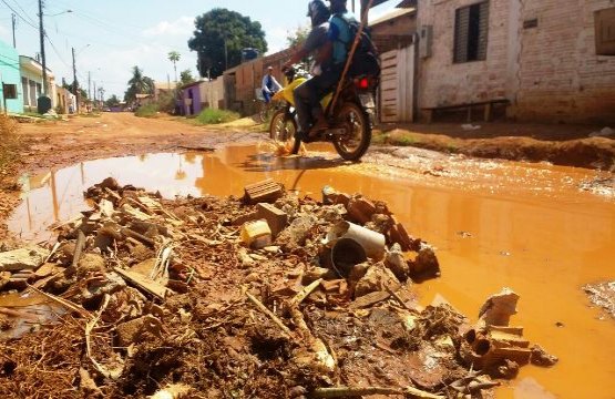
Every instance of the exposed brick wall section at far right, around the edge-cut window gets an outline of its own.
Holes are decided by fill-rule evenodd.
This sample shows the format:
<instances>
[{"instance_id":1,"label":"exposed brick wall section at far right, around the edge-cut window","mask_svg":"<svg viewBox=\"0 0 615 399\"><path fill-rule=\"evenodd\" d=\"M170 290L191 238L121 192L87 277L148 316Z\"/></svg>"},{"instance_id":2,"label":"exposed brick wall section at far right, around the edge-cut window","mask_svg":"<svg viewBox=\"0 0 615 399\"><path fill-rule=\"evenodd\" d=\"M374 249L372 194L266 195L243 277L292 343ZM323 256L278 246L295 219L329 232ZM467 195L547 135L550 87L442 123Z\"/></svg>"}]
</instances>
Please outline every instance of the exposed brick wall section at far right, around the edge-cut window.
<instances>
[{"instance_id":1,"label":"exposed brick wall section at far right, around the edge-cut window","mask_svg":"<svg viewBox=\"0 0 615 399\"><path fill-rule=\"evenodd\" d=\"M613 0L525 1L516 106L522 120L615 123L615 57L596 55L594 11Z\"/></svg>"}]
</instances>

